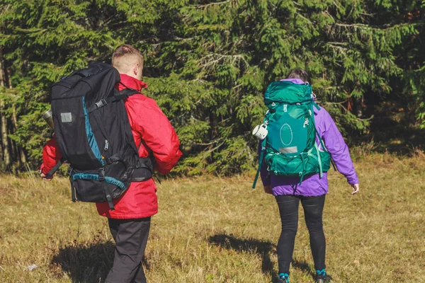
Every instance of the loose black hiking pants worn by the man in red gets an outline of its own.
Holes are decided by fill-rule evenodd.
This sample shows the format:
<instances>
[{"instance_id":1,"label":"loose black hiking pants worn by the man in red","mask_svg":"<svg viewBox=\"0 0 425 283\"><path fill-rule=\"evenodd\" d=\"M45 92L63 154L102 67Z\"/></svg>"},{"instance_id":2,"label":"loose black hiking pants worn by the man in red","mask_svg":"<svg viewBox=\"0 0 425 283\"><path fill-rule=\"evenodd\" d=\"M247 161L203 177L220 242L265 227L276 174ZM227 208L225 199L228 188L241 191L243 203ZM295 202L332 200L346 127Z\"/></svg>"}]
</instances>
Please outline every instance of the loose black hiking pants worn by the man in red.
<instances>
[{"instance_id":1,"label":"loose black hiking pants worn by the man in red","mask_svg":"<svg viewBox=\"0 0 425 283\"><path fill-rule=\"evenodd\" d=\"M115 240L115 256L105 283L146 283L142 258L149 235L150 219L108 219L109 229Z\"/></svg>"}]
</instances>

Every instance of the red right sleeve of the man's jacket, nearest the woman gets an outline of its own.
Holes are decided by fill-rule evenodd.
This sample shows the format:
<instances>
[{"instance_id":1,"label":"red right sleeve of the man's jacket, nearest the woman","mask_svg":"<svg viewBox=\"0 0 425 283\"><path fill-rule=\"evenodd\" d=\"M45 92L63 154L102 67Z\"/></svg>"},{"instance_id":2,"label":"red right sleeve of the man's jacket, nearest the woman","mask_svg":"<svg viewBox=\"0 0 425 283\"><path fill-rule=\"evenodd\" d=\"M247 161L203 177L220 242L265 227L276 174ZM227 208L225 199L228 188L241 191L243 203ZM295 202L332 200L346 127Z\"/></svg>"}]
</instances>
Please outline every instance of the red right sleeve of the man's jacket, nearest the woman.
<instances>
[{"instance_id":1,"label":"red right sleeve of the man's jacket, nearest the woman","mask_svg":"<svg viewBox=\"0 0 425 283\"><path fill-rule=\"evenodd\" d=\"M182 154L179 137L168 118L152 98L132 100L126 106L132 126L154 154L155 168L159 173L169 173Z\"/></svg>"}]
</instances>

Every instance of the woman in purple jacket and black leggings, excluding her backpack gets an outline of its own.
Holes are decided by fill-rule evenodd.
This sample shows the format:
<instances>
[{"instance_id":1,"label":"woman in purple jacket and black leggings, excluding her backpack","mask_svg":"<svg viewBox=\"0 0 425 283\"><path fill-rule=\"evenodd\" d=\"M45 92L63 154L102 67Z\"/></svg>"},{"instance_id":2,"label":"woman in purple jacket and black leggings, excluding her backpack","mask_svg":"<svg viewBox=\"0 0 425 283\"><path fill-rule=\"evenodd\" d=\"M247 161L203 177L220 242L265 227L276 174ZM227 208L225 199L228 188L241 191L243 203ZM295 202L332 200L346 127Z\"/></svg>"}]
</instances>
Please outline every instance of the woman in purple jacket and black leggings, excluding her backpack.
<instances>
[{"instance_id":1,"label":"woman in purple jacket and black leggings, excluding her backpack","mask_svg":"<svg viewBox=\"0 0 425 283\"><path fill-rule=\"evenodd\" d=\"M283 81L291 81L297 84L303 84L306 81L311 82L307 71L302 69L290 71L287 79ZM347 178L348 184L353 188L351 194L355 195L359 190L357 174L348 152L348 146L334 120L324 108L320 108L320 110L314 108L314 121L317 132L322 137L329 154L331 154L336 168ZM319 145L318 138L317 144ZM278 282L289 282L289 267L294 251L300 201L305 213L305 224L307 224L310 233L310 247L317 274L316 282L330 282L331 277L327 275L324 263L326 241L322 223L324 199L329 190L327 173L324 173L322 178L319 174L306 176L300 185L300 178L269 174L266 167L263 166L261 168L261 180L264 191L276 197L282 221L282 232L278 241Z\"/></svg>"}]
</instances>

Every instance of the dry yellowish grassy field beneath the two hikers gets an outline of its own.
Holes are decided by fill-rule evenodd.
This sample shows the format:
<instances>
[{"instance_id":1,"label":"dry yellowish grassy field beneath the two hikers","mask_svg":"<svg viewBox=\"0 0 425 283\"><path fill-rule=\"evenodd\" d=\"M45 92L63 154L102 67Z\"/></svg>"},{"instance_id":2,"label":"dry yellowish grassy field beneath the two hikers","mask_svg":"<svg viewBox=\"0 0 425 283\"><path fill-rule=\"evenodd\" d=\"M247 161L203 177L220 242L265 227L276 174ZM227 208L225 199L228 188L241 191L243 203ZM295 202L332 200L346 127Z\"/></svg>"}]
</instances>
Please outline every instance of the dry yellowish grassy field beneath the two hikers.
<instances>
[{"instance_id":1,"label":"dry yellowish grassy field beneath the two hikers","mask_svg":"<svg viewBox=\"0 0 425 283\"><path fill-rule=\"evenodd\" d=\"M338 173L324 209L334 282L425 282L425 156L356 160L361 192ZM0 176L0 282L103 282L113 243L94 204L70 201L68 180ZM253 175L159 185L145 267L150 283L273 282L278 207ZM29 265L37 265L33 271ZM291 282L313 282L302 209Z\"/></svg>"}]
</instances>

